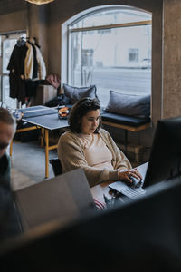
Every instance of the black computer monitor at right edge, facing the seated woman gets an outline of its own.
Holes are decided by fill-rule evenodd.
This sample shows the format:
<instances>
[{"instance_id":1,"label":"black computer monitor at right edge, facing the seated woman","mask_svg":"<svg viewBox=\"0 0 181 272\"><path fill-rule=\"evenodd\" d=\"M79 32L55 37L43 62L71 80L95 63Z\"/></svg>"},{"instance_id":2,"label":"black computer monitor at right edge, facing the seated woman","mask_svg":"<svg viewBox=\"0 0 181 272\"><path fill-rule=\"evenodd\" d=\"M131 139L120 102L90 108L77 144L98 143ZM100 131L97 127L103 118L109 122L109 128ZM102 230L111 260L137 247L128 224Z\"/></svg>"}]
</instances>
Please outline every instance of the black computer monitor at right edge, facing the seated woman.
<instances>
[{"instance_id":1,"label":"black computer monitor at right edge, facing the seated woman","mask_svg":"<svg viewBox=\"0 0 181 272\"><path fill-rule=\"evenodd\" d=\"M181 117L157 121L144 187L181 175Z\"/></svg>"}]
</instances>

